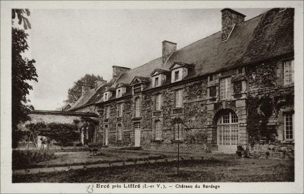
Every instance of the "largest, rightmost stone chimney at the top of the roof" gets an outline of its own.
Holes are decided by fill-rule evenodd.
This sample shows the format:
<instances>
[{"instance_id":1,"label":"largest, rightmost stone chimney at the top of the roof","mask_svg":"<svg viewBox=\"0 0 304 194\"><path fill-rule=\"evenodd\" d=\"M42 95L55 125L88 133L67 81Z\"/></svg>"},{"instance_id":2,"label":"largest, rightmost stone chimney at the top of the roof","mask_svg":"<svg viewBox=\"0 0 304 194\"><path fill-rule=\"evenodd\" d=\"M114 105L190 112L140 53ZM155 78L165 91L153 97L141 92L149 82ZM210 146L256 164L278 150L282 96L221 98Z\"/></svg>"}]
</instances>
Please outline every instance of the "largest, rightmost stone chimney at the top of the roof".
<instances>
[{"instance_id":1,"label":"largest, rightmost stone chimney at the top of the roof","mask_svg":"<svg viewBox=\"0 0 304 194\"><path fill-rule=\"evenodd\" d=\"M234 26L237 26L244 22L246 15L243 15L229 8L222 9L221 12L222 12L221 41L225 41L229 38Z\"/></svg>"}]
</instances>

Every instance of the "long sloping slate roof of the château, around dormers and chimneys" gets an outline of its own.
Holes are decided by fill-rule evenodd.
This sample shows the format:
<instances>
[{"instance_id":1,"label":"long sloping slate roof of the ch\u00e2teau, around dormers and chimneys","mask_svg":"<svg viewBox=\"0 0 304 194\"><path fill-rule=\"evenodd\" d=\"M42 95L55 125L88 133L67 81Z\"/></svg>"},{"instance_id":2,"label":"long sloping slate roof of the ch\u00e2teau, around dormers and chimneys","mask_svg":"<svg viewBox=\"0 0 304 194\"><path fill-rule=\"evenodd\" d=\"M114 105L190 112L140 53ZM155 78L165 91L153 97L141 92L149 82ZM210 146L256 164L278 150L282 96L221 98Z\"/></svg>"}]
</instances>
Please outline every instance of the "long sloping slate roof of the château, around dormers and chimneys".
<instances>
[{"instance_id":1,"label":"long sloping slate roof of the ch\u00e2teau, around dormers and chimneys","mask_svg":"<svg viewBox=\"0 0 304 194\"><path fill-rule=\"evenodd\" d=\"M291 53L294 51L294 9L279 11L279 8L271 9L235 26L225 42L221 42L221 32L217 32L175 51L164 65L160 57L129 70L121 74L116 83L131 83L136 76L151 78L150 74L153 70L169 71L174 62L195 65L184 78L187 79ZM112 83L112 87L115 87L116 83ZM168 83L170 80L166 80L163 85ZM144 90L150 88L151 83ZM124 96L130 95L129 93ZM89 92L83 95L88 97L81 98L90 98L93 95ZM109 100L114 98L113 95ZM97 103L100 102L102 102L101 97Z\"/></svg>"}]
</instances>

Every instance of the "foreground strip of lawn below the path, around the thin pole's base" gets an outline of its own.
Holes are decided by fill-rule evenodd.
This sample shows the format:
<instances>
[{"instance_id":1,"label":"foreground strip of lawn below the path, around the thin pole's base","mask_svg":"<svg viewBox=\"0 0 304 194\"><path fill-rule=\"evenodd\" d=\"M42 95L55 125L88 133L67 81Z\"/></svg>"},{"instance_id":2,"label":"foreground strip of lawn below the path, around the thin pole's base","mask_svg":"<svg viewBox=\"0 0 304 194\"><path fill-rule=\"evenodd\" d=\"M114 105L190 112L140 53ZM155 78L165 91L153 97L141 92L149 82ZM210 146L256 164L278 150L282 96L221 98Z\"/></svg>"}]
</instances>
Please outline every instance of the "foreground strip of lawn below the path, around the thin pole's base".
<instances>
[{"instance_id":1,"label":"foreground strip of lawn below the path, around the thin pole's base","mask_svg":"<svg viewBox=\"0 0 304 194\"><path fill-rule=\"evenodd\" d=\"M13 175L12 182L293 182L294 162L273 159L221 159L159 162Z\"/></svg>"}]
</instances>

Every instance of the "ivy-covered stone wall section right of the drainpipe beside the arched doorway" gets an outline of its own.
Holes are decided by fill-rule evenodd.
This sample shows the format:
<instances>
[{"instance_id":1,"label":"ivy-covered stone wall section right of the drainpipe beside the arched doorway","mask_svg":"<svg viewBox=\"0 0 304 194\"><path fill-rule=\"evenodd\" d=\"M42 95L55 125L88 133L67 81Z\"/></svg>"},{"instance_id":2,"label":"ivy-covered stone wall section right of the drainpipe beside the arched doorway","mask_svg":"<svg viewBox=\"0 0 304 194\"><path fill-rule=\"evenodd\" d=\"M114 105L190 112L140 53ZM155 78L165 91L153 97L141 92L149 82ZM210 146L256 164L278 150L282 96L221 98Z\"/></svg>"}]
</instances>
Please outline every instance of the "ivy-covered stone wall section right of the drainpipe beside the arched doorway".
<instances>
[{"instance_id":1,"label":"ivy-covered stone wall section right of the drainpipe beside the arched doorway","mask_svg":"<svg viewBox=\"0 0 304 194\"><path fill-rule=\"evenodd\" d=\"M257 104L248 117L250 156L293 156L294 141L285 139L284 115L294 111L294 85L284 85L283 62L270 61L249 69L249 103Z\"/></svg>"}]
</instances>

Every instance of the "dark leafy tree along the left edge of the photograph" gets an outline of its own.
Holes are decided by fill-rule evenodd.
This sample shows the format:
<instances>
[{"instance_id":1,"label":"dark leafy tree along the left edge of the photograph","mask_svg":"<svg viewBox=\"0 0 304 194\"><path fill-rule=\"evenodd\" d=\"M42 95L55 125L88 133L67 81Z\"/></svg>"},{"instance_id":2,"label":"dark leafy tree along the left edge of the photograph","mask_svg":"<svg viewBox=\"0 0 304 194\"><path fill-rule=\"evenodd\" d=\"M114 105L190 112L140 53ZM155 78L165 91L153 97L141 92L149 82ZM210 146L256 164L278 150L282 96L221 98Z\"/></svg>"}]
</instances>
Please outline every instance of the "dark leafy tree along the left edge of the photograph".
<instances>
[{"instance_id":1,"label":"dark leafy tree along the left edge of the photograph","mask_svg":"<svg viewBox=\"0 0 304 194\"><path fill-rule=\"evenodd\" d=\"M28 19L23 16L23 13L29 15L29 11L20 9L12 10L12 19L15 18L15 12L19 18L19 24L24 21L24 28L30 28ZM21 22L20 22L21 21ZM29 90L33 87L27 81L37 80L36 68L33 65L36 61L23 58L21 53L28 50L26 42L28 34L22 29L12 28L12 147L18 145L21 138L20 131L18 131L18 124L30 120L27 115L30 109L34 109L32 105L27 104L30 100L26 99Z\"/></svg>"}]
</instances>

